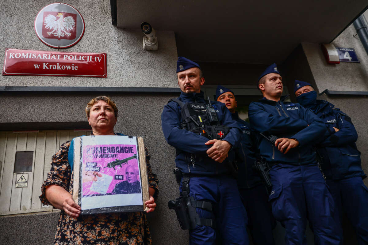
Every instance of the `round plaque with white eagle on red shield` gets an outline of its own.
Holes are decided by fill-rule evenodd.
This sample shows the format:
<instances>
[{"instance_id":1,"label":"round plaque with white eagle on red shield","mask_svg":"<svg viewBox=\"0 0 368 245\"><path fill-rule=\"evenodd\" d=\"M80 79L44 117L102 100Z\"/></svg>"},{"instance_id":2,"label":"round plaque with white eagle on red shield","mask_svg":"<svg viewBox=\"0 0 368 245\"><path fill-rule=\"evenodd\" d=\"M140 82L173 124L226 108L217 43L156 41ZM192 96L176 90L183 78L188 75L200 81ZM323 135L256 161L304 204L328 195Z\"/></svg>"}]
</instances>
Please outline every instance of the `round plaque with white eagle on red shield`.
<instances>
[{"instance_id":1,"label":"round plaque with white eagle on red shield","mask_svg":"<svg viewBox=\"0 0 368 245\"><path fill-rule=\"evenodd\" d=\"M66 3L52 3L40 10L35 18L35 32L41 42L52 48L68 48L84 34L84 19Z\"/></svg>"}]
</instances>

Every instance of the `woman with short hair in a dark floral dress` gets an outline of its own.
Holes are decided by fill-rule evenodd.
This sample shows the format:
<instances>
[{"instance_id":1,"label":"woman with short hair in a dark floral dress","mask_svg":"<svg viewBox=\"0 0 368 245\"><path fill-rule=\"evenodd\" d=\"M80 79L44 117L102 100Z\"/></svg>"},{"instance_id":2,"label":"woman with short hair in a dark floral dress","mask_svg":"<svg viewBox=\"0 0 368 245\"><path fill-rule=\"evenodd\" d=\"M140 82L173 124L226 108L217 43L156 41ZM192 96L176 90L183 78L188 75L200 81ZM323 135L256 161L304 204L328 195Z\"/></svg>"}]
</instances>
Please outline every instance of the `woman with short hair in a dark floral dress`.
<instances>
[{"instance_id":1,"label":"woman with short hair in a dark floral dress","mask_svg":"<svg viewBox=\"0 0 368 245\"><path fill-rule=\"evenodd\" d=\"M116 135L114 126L117 121L118 109L116 104L106 96L98 96L92 99L85 109L89 125L92 127L91 135ZM57 226L55 244L152 244L146 215L144 212L130 213L99 213L94 215L81 215L81 207L73 201L73 175L68 162L68 150L71 141L62 144L60 150L52 157L52 167L47 174L47 179L41 187L41 202L45 205L51 204L54 208L61 209L60 219ZM98 151L98 149L95 149ZM130 152L131 149L120 149ZM149 200L145 205L152 212L156 208L155 198L158 195L158 179L152 173L149 164L150 155L146 150L146 163L149 185ZM94 149L91 149L93 156ZM106 151L104 148L103 151ZM117 156L118 148L109 149L111 157ZM114 152L113 152L114 151ZM118 152L117 152L118 151ZM113 154L111 154L113 152ZM134 154L134 152L132 152ZM97 156L97 154L95 154ZM100 156L100 155L99 155ZM107 154L105 154L108 157ZM130 159L136 158L134 155ZM107 169L119 169L122 161L116 159L107 164ZM106 174L98 172L99 167L95 162L86 162L83 169L83 185L89 184L88 188L93 195L134 195L131 193L141 192L137 169L134 165L125 165L125 175L116 174L111 180L112 190L98 185L98 181ZM96 170L96 171L95 171ZM117 171L117 170L116 170ZM119 178L121 176L121 181ZM124 179L124 181L122 180ZM126 179L126 180L125 180ZM139 184L137 186L137 184ZM139 187L139 188L138 188Z\"/></svg>"}]
</instances>

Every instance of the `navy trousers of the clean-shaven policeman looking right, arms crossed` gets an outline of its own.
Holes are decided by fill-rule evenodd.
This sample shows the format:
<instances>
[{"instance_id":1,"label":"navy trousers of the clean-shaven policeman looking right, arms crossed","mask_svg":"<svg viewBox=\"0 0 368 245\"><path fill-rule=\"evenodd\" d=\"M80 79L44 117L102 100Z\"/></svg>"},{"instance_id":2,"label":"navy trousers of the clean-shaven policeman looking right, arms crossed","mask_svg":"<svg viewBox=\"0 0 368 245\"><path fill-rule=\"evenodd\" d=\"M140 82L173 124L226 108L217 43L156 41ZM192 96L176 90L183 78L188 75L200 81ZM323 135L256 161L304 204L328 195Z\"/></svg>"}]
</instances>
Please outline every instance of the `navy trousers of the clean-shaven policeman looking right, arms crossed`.
<instances>
[{"instance_id":1,"label":"navy trousers of the clean-shaven policeman looking right, arms crossed","mask_svg":"<svg viewBox=\"0 0 368 245\"><path fill-rule=\"evenodd\" d=\"M342 244L342 230L333 215L335 205L315 163L294 166L277 164L270 170L272 213L286 229L286 244L306 245L307 218L315 244Z\"/></svg>"}]
</instances>

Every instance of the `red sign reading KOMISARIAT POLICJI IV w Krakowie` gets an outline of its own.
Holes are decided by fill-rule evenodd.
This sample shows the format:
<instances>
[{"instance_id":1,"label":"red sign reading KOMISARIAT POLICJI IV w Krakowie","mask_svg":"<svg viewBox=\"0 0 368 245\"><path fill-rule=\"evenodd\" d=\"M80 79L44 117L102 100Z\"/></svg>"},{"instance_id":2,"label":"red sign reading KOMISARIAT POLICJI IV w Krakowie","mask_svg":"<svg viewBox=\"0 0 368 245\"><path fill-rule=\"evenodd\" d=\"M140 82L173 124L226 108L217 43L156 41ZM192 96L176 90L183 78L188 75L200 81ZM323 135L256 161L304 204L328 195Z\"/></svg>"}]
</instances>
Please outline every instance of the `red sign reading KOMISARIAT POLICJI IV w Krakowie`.
<instances>
[{"instance_id":1,"label":"red sign reading KOMISARIAT POLICJI IV w Krakowie","mask_svg":"<svg viewBox=\"0 0 368 245\"><path fill-rule=\"evenodd\" d=\"M107 78L106 53L6 48L3 75Z\"/></svg>"}]
</instances>

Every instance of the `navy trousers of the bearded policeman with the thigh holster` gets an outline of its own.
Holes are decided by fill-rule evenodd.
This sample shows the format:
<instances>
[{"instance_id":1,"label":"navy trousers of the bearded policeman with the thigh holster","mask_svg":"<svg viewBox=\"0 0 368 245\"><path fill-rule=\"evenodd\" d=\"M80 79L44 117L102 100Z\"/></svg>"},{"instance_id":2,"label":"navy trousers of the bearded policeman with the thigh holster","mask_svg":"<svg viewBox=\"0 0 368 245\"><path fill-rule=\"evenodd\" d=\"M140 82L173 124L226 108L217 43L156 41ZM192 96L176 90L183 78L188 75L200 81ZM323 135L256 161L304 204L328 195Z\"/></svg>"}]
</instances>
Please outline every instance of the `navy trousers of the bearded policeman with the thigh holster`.
<instances>
[{"instance_id":1,"label":"navy trousers of the bearded policeman with the thigh holster","mask_svg":"<svg viewBox=\"0 0 368 245\"><path fill-rule=\"evenodd\" d=\"M182 179L183 181L183 179ZM216 244L216 230L222 244L248 245L247 212L241 202L236 180L230 176L189 178L189 196L213 203L213 211L197 208L199 218L214 219L217 227L196 226L189 230L189 244ZM181 191L182 183L180 183Z\"/></svg>"}]
</instances>

